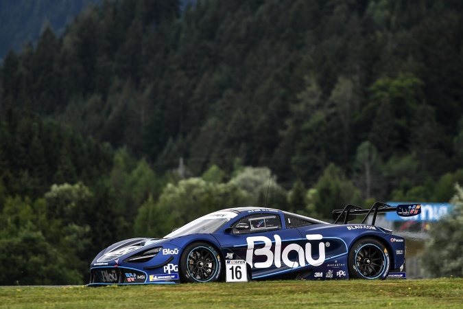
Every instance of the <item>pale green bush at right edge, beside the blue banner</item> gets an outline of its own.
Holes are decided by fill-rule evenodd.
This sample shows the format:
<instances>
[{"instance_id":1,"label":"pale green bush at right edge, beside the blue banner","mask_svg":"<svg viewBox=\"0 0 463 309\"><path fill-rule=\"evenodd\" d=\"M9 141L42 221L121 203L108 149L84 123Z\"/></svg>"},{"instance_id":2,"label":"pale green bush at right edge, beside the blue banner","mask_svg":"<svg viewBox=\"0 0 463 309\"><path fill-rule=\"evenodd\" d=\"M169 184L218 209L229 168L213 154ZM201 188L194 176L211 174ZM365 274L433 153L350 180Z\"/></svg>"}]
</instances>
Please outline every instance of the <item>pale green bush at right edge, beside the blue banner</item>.
<instances>
[{"instance_id":1,"label":"pale green bush at right edge, beside the blue banner","mask_svg":"<svg viewBox=\"0 0 463 309\"><path fill-rule=\"evenodd\" d=\"M449 216L434 222L423 253L423 266L431 277L463 277L463 188L455 184L455 205Z\"/></svg>"}]
</instances>

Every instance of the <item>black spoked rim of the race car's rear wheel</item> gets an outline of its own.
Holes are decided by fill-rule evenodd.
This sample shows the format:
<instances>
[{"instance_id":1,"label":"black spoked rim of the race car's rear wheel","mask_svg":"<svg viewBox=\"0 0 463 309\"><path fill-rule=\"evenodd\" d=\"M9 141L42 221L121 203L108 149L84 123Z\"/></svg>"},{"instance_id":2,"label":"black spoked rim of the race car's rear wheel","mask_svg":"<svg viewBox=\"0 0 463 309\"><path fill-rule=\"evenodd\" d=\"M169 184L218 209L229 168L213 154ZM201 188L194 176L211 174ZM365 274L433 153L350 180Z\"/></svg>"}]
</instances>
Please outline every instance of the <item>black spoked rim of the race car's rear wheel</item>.
<instances>
[{"instance_id":1,"label":"black spoked rim of the race car's rear wheel","mask_svg":"<svg viewBox=\"0 0 463 309\"><path fill-rule=\"evenodd\" d=\"M374 244L364 244L355 253L355 266L360 275L376 279L384 272L385 255Z\"/></svg>"}]
</instances>

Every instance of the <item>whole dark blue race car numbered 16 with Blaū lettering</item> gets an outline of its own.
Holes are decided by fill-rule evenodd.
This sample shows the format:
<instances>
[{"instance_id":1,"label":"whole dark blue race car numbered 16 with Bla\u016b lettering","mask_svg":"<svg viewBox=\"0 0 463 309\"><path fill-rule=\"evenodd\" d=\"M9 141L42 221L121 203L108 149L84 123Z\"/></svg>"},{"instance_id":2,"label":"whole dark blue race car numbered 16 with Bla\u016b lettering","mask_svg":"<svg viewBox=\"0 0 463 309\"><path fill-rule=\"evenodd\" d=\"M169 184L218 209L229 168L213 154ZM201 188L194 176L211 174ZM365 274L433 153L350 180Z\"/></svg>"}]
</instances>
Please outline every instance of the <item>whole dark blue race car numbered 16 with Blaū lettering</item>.
<instances>
[{"instance_id":1,"label":"whole dark blue race car numbered 16 with Bla\u016b lettering","mask_svg":"<svg viewBox=\"0 0 463 309\"><path fill-rule=\"evenodd\" d=\"M333 211L333 224L266 207L223 209L164 238L112 244L91 263L89 285L405 278L405 239L375 225L388 211L416 216L421 209L346 205ZM348 224L357 215L361 223Z\"/></svg>"}]
</instances>

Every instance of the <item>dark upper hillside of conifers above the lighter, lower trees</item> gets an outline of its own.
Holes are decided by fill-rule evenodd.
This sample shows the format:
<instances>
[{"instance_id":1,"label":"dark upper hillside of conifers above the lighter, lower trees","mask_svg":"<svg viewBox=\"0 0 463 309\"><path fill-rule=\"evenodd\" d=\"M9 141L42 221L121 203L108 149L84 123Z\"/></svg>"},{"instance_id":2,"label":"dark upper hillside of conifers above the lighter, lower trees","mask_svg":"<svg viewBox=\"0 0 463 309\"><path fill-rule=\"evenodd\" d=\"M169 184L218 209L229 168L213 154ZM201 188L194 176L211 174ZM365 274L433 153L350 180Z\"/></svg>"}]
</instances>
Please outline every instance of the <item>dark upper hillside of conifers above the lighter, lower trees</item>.
<instances>
[{"instance_id":1,"label":"dark upper hillside of conifers above the lighter, lower trees","mask_svg":"<svg viewBox=\"0 0 463 309\"><path fill-rule=\"evenodd\" d=\"M179 9L104 1L60 38L45 27L36 47L5 58L3 100L126 146L157 174L179 157L195 175L213 164L231 172L240 157L289 188L331 162L352 170L367 140L383 161L415 155L421 179L460 164L450 149L460 6L213 0L178 19ZM53 183L82 180L63 153Z\"/></svg>"}]
</instances>

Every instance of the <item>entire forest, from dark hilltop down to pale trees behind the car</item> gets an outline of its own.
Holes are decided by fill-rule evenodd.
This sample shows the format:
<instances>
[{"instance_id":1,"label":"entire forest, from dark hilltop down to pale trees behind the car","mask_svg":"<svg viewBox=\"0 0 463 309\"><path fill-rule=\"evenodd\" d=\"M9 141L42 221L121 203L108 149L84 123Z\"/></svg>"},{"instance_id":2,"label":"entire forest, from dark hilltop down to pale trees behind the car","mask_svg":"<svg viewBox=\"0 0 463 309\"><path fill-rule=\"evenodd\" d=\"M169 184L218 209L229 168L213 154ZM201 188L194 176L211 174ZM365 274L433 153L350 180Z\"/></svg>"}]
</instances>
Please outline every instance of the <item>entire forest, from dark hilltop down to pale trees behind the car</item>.
<instances>
[{"instance_id":1,"label":"entire forest, from dark hilltop down to pale trees behind the car","mask_svg":"<svg viewBox=\"0 0 463 309\"><path fill-rule=\"evenodd\" d=\"M0 263L22 271L0 284L84 282L108 244L233 205L328 220L463 183L462 1L182 8L102 1L4 58Z\"/></svg>"}]
</instances>

